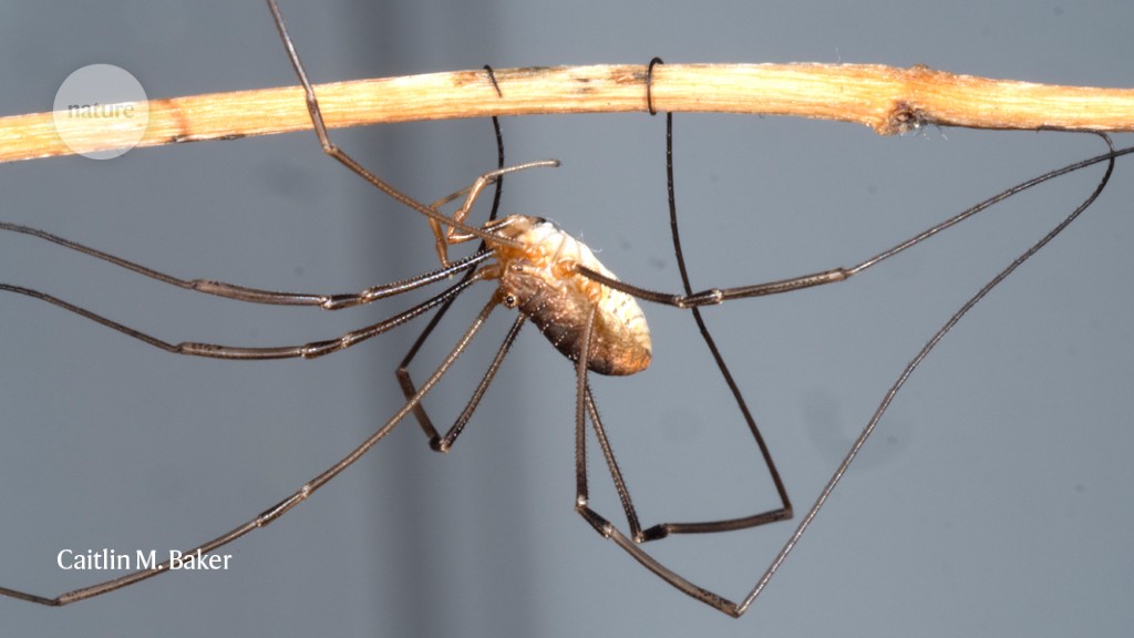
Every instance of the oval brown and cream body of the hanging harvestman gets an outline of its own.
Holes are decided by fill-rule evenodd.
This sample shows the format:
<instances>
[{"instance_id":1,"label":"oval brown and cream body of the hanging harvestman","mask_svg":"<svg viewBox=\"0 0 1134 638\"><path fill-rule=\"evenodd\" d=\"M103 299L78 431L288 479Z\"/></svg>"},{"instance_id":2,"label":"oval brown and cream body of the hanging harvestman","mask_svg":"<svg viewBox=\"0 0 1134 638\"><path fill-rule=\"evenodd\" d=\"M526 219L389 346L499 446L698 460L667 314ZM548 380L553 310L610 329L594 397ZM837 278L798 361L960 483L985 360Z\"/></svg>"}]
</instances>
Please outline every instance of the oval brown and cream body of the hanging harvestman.
<instances>
[{"instance_id":1,"label":"oval brown and cream body of the hanging harvestman","mask_svg":"<svg viewBox=\"0 0 1134 638\"><path fill-rule=\"evenodd\" d=\"M600 375L633 375L650 364L650 328L637 301L575 272L579 265L616 278L591 249L539 217L513 215L492 229L524 245L496 247L503 303L530 317L559 352L578 359L593 308L586 367Z\"/></svg>"}]
</instances>

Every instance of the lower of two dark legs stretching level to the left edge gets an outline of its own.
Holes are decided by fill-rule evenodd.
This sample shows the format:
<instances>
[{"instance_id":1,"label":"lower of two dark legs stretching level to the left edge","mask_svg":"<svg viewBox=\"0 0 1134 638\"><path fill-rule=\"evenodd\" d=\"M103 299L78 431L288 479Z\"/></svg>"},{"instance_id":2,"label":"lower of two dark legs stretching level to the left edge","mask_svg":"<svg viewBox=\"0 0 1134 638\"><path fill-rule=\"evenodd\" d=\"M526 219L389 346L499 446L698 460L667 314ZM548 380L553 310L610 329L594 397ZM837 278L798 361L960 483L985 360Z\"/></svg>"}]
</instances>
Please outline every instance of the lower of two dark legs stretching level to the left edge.
<instances>
[{"instance_id":1,"label":"lower of two dark legs stretching level to the left edge","mask_svg":"<svg viewBox=\"0 0 1134 638\"><path fill-rule=\"evenodd\" d=\"M50 304L62 308L85 317L98 324L102 324L108 328L112 328L122 333L124 335L134 337L141 342L150 344L154 347L164 350L174 354L185 354L189 356L204 356L209 359L314 359L316 356L322 356L324 354L330 354L332 352L338 352L340 350L346 350L353 345L357 345L371 337L378 336L387 330L396 328L415 317L451 300L452 297L460 294L462 291L473 285L477 277L468 277L462 282L452 285L441 293L418 303L417 305L395 314L389 319L379 321L378 324L372 324L364 328L357 330L352 330L345 335L327 341L311 342L303 345L287 345L287 346L276 346L276 347L243 347L243 346L229 346L229 345L218 345L212 343L198 343L198 342L181 342L181 343L169 343L159 339L154 336L147 335L139 330L135 330L129 326L124 326L117 321L108 319L101 314L91 312L85 308L74 305L59 297L41 293L40 291L25 288L23 286L12 286L10 284L0 284L0 291L22 294L41 301L45 301Z\"/></svg>"}]
</instances>

